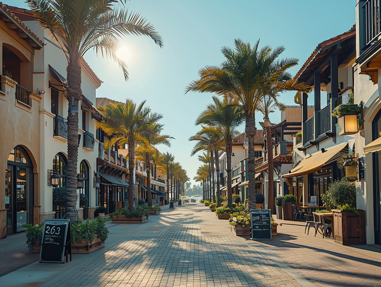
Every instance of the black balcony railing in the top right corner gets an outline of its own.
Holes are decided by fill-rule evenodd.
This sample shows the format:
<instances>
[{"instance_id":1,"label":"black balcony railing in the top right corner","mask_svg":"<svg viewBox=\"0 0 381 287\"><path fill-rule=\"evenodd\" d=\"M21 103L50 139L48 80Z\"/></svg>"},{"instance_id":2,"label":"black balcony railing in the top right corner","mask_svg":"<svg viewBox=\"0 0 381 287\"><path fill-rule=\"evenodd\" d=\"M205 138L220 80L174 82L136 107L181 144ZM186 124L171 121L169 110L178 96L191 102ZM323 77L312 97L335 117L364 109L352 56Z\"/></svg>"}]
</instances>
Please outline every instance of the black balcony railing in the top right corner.
<instances>
[{"instance_id":1,"label":"black balcony railing in the top right corner","mask_svg":"<svg viewBox=\"0 0 381 287\"><path fill-rule=\"evenodd\" d=\"M365 45L373 43L381 32L380 1L368 0L363 6L365 16Z\"/></svg>"}]
</instances>

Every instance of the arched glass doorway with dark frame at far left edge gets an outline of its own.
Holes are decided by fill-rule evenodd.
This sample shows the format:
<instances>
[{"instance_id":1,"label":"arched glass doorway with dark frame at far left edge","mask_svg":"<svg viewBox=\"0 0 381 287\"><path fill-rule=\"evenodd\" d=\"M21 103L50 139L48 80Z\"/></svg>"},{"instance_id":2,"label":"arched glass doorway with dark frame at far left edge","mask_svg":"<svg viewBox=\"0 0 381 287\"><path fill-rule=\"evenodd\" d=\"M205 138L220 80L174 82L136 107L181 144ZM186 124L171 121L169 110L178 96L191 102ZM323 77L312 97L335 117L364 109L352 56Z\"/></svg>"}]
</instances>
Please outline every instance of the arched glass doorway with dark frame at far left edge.
<instances>
[{"instance_id":1,"label":"arched glass doorway with dark frame at far left edge","mask_svg":"<svg viewBox=\"0 0 381 287\"><path fill-rule=\"evenodd\" d=\"M5 170L5 208L7 234L23 231L22 226L33 223L33 165L21 146L12 149Z\"/></svg>"}]
</instances>

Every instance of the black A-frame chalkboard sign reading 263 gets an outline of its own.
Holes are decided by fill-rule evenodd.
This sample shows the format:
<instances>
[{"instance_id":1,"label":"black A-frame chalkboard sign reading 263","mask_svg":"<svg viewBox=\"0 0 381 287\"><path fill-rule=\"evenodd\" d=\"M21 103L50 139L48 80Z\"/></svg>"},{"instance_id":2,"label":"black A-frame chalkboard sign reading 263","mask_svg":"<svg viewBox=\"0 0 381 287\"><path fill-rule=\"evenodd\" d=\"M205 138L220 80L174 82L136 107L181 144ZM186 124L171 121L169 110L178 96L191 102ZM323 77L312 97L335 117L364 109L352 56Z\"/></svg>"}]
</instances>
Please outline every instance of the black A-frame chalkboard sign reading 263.
<instances>
[{"instance_id":1,"label":"black A-frame chalkboard sign reading 263","mask_svg":"<svg viewBox=\"0 0 381 287\"><path fill-rule=\"evenodd\" d=\"M40 251L40 263L64 263L70 254L70 219L45 219Z\"/></svg>"}]
</instances>

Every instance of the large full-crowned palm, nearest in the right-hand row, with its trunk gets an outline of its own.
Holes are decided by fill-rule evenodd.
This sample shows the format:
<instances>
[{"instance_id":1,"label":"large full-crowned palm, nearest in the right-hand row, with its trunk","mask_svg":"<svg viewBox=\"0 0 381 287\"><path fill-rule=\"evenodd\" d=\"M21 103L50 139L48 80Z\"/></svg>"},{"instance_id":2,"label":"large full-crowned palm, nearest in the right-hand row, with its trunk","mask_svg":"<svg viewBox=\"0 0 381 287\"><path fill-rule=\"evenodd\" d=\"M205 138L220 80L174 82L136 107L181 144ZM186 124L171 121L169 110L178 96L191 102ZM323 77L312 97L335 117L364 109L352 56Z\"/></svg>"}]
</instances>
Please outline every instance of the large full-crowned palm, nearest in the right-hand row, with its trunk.
<instances>
[{"instance_id":1,"label":"large full-crowned palm, nearest in the right-hand row, with its trunk","mask_svg":"<svg viewBox=\"0 0 381 287\"><path fill-rule=\"evenodd\" d=\"M296 58L278 61L285 50L280 46L272 50L270 46L259 48L259 40L251 47L240 39L234 40L235 50L228 47L221 49L226 58L220 66L206 66L199 70L199 80L186 87L188 91L210 92L228 96L237 101L245 113L245 132L248 136L248 175L249 175L249 208L255 209L255 152L253 139L256 133L255 111L258 103L266 94L269 83L277 80L279 74L298 64ZM275 66L275 61L279 65ZM276 67L276 69L274 69ZM306 91L303 84L289 80L282 90ZM279 90L280 91L280 90Z\"/></svg>"}]
</instances>

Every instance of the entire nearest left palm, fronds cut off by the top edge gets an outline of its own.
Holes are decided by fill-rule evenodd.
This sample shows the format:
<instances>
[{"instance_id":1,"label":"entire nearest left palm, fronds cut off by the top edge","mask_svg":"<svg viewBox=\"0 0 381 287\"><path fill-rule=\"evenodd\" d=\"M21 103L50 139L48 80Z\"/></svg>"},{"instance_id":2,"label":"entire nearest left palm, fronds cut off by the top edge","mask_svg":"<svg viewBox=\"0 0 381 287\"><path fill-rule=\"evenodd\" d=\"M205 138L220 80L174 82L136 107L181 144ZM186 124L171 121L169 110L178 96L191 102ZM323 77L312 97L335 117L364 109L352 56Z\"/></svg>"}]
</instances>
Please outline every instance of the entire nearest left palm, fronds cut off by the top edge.
<instances>
[{"instance_id":1,"label":"entire nearest left palm, fronds cut off by the top edge","mask_svg":"<svg viewBox=\"0 0 381 287\"><path fill-rule=\"evenodd\" d=\"M160 47L161 37L154 26L139 14L128 13L126 8L115 9L115 0L27 0L38 25L51 32L53 40L61 47L67 60L66 99L69 102L67 117L67 212L75 220L77 203L78 163L78 112L71 113L82 98L81 65L88 50L116 61L128 79L127 66L116 51L121 43L118 37L146 35Z\"/></svg>"}]
</instances>

